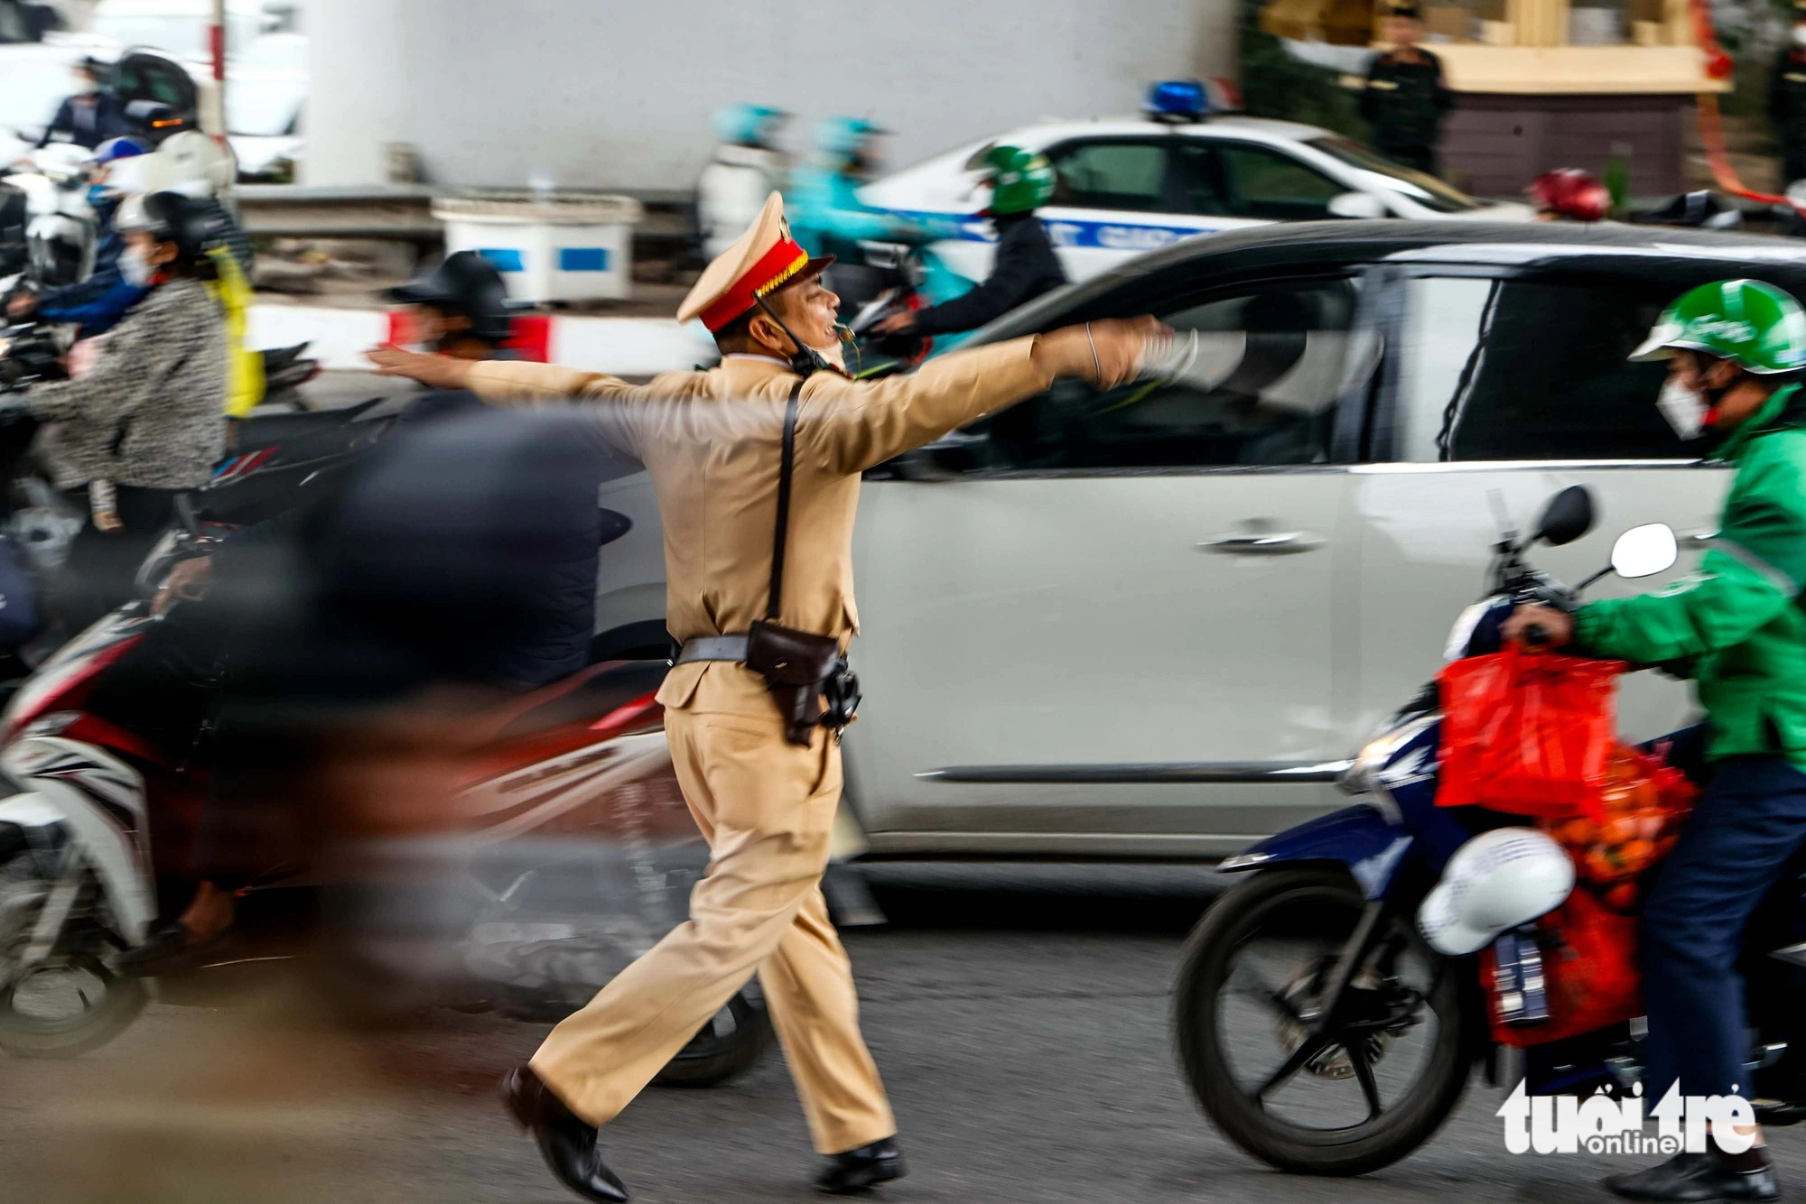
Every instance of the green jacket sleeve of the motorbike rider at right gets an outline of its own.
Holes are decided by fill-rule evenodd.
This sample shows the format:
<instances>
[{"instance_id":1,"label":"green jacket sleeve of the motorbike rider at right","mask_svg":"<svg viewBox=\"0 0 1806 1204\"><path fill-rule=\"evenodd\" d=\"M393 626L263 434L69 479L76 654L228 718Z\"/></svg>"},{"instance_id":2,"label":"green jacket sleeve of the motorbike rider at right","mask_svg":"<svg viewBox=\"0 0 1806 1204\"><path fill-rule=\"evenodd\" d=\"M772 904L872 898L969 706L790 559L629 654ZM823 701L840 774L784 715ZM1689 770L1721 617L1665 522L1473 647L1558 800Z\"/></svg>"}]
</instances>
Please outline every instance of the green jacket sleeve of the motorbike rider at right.
<instances>
[{"instance_id":1,"label":"green jacket sleeve of the motorbike rider at right","mask_svg":"<svg viewBox=\"0 0 1806 1204\"><path fill-rule=\"evenodd\" d=\"M1656 594L1582 607L1575 641L1620 661L1680 661L1741 644L1795 605L1806 585L1806 475L1786 444L1799 437L1750 448L1698 572Z\"/></svg>"}]
</instances>

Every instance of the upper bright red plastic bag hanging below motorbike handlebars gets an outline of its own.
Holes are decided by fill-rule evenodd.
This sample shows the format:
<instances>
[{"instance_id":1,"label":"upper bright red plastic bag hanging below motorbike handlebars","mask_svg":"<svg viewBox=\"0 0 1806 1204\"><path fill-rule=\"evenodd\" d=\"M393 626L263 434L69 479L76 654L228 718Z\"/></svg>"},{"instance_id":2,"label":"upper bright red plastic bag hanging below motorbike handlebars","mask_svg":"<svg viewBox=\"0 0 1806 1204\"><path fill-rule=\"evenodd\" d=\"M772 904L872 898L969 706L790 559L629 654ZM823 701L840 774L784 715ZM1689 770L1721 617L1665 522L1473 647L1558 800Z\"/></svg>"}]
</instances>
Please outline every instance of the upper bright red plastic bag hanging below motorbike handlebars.
<instances>
[{"instance_id":1,"label":"upper bright red plastic bag hanging below motorbike handlebars","mask_svg":"<svg viewBox=\"0 0 1806 1204\"><path fill-rule=\"evenodd\" d=\"M1622 661L1504 652L1454 661L1443 693L1443 807L1600 818Z\"/></svg>"}]
</instances>

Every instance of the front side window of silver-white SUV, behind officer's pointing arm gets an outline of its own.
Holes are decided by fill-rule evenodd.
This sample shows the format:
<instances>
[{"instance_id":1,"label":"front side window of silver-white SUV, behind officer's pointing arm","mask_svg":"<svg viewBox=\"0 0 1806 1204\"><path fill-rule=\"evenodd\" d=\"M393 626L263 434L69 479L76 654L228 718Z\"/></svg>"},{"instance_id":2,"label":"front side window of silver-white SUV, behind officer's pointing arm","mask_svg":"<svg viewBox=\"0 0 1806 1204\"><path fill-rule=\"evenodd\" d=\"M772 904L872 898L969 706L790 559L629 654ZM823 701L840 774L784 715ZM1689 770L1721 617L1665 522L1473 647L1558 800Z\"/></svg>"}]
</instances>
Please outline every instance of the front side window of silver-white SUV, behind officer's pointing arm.
<instances>
[{"instance_id":1,"label":"front side window of silver-white SUV, behind officer's pointing arm","mask_svg":"<svg viewBox=\"0 0 1806 1204\"><path fill-rule=\"evenodd\" d=\"M1060 381L979 428L988 435L988 466L1326 462L1338 399L1378 359L1378 339L1354 329L1356 298L1351 280L1311 280L1168 307L1163 321L1199 336L1185 377L1109 392Z\"/></svg>"}]
</instances>

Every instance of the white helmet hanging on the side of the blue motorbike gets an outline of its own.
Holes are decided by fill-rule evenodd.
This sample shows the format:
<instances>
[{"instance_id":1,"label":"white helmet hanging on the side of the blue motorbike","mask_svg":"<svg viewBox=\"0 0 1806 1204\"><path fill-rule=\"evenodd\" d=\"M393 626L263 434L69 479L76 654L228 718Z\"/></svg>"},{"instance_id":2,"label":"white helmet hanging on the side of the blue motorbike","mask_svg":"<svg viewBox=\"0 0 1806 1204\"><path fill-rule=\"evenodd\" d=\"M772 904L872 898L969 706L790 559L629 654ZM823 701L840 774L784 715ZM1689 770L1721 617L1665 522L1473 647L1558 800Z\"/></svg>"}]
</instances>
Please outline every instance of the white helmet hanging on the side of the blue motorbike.
<instances>
[{"instance_id":1,"label":"white helmet hanging on the side of the blue motorbike","mask_svg":"<svg viewBox=\"0 0 1806 1204\"><path fill-rule=\"evenodd\" d=\"M1476 953L1519 924L1562 904L1575 863L1548 832L1494 829L1456 850L1423 899L1418 928L1438 953Z\"/></svg>"}]
</instances>

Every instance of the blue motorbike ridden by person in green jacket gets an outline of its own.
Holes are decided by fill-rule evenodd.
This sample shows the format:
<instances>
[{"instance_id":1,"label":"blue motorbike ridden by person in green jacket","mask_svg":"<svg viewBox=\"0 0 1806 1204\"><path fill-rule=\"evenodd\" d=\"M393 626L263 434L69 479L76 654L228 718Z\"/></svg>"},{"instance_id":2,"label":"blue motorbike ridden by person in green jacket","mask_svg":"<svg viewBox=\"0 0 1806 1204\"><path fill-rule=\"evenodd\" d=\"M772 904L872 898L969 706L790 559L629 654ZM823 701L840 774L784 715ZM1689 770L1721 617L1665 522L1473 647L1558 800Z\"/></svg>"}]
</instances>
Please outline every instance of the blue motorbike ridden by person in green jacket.
<instances>
[{"instance_id":1,"label":"blue motorbike ridden by person in green jacket","mask_svg":"<svg viewBox=\"0 0 1806 1204\"><path fill-rule=\"evenodd\" d=\"M1559 493L1519 540L1494 547L1486 596L1468 607L1448 657L1501 646L1513 607L1577 605L1607 572L1651 576L1674 563L1674 534L1654 523L1620 536L1613 569L1578 588L1537 572L1524 552L1571 543L1593 525L1586 489ZM1279 1170L1360 1175L1429 1141L1476 1069L1530 1096L1631 1092L1642 1022L1530 1043L1522 1063L1494 1040L1477 959L1443 957L1418 931L1418 908L1454 852L1522 816L1438 807L1441 713L1436 686L1392 715L1340 787L1360 801L1264 839L1223 863L1246 874L1192 931L1178 978L1178 1056L1197 1103L1248 1153ZM1687 767L1687 735L1671 764ZM1698 746L1698 738L1692 746ZM1806 1119L1806 924L1802 879L1783 877L1750 924L1750 1070L1757 1117ZM1495 966L1541 987L1548 939L1530 924L1499 933ZM1551 957L1557 949L1548 949ZM1524 1023L1546 1020L1524 1013ZM1799 1040L1795 1040L1799 1036Z\"/></svg>"}]
</instances>

